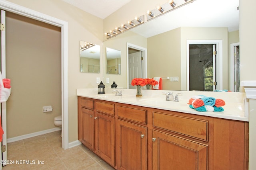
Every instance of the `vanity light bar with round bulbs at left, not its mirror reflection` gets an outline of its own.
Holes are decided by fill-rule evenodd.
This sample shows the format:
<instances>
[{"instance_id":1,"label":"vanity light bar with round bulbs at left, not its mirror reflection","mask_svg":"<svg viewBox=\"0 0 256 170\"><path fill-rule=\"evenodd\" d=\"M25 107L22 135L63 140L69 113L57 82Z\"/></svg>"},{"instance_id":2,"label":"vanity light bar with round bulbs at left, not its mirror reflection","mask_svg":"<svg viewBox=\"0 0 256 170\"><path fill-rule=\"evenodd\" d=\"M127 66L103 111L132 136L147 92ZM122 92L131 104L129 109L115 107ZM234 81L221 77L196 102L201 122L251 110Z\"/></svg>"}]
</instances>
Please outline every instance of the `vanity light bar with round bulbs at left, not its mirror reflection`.
<instances>
[{"instance_id":1,"label":"vanity light bar with round bulbs at left, not its mirror reflection","mask_svg":"<svg viewBox=\"0 0 256 170\"><path fill-rule=\"evenodd\" d=\"M113 30L110 30L109 32L105 33L107 39L111 38L119 33L122 33L132 27L135 27L137 25L140 25L144 22L144 15L140 17L136 17L134 20L128 21L126 24L122 24L120 27L116 27Z\"/></svg>"}]
</instances>

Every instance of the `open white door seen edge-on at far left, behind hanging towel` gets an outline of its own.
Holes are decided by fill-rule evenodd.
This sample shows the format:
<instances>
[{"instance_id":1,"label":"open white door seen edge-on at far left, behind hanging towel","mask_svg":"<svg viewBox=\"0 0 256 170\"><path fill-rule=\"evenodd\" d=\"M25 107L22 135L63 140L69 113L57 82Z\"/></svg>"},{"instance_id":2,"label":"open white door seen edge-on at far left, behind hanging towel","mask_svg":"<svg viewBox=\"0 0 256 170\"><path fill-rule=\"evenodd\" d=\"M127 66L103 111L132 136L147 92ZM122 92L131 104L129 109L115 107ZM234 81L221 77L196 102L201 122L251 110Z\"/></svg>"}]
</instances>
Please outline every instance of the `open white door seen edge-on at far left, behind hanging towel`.
<instances>
[{"instance_id":1,"label":"open white door seen edge-on at far left, behind hanging towel","mask_svg":"<svg viewBox=\"0 0 256 170\"><path fill-rule=\"evenodd\" d=\"M2 78L6 78L6 70L5 70L5 11L1 10L1 72L2 72ZM2 81L2 80L0 80ZM6 139L6 102L3 102L1 105L1 121L2 121L2 128L4 131L3 139L1 143L0 150L2 152L2 158L1 160L7 160L7 139ZM4 149L5 148L5 149ZM6 162L2 164L3 166L6 165ZM0 166L0 169L2 169L2 166Z\"/></svg>"}]
</instances>

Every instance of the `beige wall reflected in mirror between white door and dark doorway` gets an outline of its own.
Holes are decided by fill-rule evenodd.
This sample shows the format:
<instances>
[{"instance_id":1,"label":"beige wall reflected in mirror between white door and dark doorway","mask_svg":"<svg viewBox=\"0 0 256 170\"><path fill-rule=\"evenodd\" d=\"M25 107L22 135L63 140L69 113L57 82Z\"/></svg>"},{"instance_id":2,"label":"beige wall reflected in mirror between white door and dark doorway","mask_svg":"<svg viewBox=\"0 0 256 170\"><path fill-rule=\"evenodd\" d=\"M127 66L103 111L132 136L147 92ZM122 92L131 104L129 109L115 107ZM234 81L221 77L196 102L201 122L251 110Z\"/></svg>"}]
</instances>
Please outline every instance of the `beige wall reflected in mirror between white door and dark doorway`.
<instances>
[{"instance_id":1,"label":"beige wall reflected in mirror between white door and dark doorway","mask_svg":"<svg viewBox=\"0 0 256 170\"><path fill-rule=\"evenodd\" d=\"M180 78L181 29L161 33L148 38L148 77ZM162 80L163 89L180 90L179 82Z\"/></svg>"}]
</instances>

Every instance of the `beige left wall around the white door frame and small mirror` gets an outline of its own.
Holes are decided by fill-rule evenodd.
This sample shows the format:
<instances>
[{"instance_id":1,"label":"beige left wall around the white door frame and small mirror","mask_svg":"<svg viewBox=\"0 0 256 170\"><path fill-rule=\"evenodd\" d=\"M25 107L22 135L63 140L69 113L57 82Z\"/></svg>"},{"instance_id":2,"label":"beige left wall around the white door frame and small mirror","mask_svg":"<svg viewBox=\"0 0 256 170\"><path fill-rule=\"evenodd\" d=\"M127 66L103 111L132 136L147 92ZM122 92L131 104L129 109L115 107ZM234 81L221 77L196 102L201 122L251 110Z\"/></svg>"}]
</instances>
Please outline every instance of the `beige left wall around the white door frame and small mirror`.
<instances>
[{"instance_id":1,"label":"beige left wall around the white door frame and small mirror","mask_svg":"<svg viewBox=\"0 0 256 170\"><path fill-rule=\"evenodd\" d=\"M36 3L34 0L8 1L68 22L68 133L69 142L76 141L78 139L76 89L97 87L96 77L102 79L102 68L100 74L80 72L80 40L98 44L102 48L103 20L62 0L43 0ZM24 126L26 126L25 122L20 130L24 129ZM30 131L26 132L28 133Z\"/></svg>"}]
</instances>

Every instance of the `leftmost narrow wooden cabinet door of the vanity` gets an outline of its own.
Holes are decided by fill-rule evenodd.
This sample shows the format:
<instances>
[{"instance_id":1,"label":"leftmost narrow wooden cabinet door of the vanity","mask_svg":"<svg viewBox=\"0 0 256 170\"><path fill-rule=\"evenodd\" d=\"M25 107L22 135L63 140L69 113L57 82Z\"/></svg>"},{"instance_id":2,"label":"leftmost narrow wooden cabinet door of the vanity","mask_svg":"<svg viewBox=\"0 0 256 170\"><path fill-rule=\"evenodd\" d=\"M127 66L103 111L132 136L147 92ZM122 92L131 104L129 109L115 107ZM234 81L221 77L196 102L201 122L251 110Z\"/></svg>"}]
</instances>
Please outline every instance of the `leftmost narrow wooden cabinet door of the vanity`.
<instances>
[{"instance_id":1,"label":"leftmost narrow wooden cabinet door of the vanity","mask_svg":"<svg viewBox=\"0 0 256 170\"><path fill-rule=\"evenodd\" d=\"M89 149L94 149L94 114L92 110L82 108L83 132L82 143Z\"/></svg>"}]
</instances>

